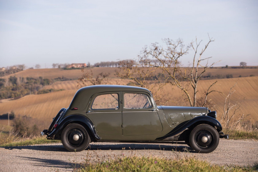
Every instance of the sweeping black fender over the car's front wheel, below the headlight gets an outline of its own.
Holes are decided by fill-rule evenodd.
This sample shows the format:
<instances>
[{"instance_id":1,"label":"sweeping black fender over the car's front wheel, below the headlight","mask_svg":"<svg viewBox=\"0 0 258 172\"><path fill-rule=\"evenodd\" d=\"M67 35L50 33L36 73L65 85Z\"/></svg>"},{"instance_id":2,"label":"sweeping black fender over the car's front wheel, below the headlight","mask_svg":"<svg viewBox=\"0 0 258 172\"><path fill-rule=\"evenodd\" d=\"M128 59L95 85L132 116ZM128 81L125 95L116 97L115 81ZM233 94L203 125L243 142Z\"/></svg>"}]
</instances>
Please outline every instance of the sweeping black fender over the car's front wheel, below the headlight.
<instances>
[{"instance_id":1,"label":"sweeping black fender over the car's front wheel, below the headlight","mask_svg":"<svg viewBox=\"0 0 258 172\"><path fill-rule=\"evenodd\" d=\"M166 134L165 136L156 138L156 140L162 140L162 139L177 135L177 134L181 133L182 131L186 130L187 128L195 127L199 124L209 124L213 127L216 127L218 132L222 130L222 126L221 126L220 122L218 122L217 119L212 118L210 116L202 115L202 116L198 116L198 117L195 117L195 118L189 120L188 122L184 123L183 125L176 126L168 134Z\"/></svg>"}]
</instances>

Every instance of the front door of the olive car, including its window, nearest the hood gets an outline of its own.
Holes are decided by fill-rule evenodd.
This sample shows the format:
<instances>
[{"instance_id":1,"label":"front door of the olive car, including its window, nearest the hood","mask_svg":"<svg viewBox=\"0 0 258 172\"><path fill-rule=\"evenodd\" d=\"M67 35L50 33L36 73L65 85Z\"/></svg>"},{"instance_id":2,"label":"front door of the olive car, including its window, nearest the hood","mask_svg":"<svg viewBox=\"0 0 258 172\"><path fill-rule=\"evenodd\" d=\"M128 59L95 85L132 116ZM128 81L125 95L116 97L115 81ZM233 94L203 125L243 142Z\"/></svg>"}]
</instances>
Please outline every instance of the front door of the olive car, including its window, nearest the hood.
<instances>
[{"instance_id":1,"label":"front door of the olive car, including its window, nearest the hood","mask_svg":"<svg viewBox=\"0 0 258 172\"><path fill-rule=\"evenodd\" d=\"M142 92L123 94L123 135L149 135L162 131L162 124L150 95Z\"/></svg>"}]
</instances>

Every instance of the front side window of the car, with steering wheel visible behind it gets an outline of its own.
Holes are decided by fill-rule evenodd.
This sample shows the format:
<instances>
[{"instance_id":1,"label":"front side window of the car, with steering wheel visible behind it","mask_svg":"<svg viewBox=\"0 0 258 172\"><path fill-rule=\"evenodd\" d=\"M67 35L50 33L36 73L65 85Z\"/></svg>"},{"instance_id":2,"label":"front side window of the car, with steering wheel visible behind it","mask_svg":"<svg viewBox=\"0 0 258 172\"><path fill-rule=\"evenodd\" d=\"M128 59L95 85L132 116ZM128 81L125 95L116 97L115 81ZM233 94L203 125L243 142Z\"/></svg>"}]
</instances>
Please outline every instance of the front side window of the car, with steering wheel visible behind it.
<instances>
[{"instance_id":1,"label":"front side window of the car, with steering wheel visible behind it","mask_svg":"<svg viewBox=\"0 0 258 172\"><path fill-rule=\"evenodd\" d=\"M146 94L125 93L124 108L126 109L145 109L151 107L151 101Z\"/></svg>"}]
</instances>

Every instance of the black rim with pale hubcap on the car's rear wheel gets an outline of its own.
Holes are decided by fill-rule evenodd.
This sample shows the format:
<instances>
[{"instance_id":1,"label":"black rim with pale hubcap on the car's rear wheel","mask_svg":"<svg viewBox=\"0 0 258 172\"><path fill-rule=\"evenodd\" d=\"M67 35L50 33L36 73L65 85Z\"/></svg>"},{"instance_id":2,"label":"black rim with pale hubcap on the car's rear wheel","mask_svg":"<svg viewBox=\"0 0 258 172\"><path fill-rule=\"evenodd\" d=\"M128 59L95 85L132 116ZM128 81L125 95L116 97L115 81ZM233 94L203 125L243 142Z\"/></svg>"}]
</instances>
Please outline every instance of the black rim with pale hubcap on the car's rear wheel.
<instances>
[{"instance_id":1,"label":"black rim with pale hubcap on the car's rear wheel","mask_svg":"<svg viewBox=\"0 0 258 172\"><path fill-rule=\"evenodd\" d=\"M72 129L67 133L66 138L70 146L78 147L85 141L85 133L80 129Z\"/></svg>"}]
</instances>

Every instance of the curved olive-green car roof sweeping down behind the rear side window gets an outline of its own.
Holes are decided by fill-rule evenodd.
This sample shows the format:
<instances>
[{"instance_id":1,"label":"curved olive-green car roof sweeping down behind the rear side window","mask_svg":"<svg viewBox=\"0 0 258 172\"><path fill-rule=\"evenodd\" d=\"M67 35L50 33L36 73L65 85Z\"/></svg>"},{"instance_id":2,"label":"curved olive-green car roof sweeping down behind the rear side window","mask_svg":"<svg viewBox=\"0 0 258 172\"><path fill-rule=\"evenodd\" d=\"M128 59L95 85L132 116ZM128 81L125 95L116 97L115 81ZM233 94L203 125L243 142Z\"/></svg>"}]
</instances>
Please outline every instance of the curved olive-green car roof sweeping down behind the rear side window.
<instances>
[{"instance_id":1,"label":"curved olive-green car roof sweeping down behind the rear side window","mask_svg":"<svg viewBox=\"0 0 258 172\"><path fill-rule=\"evenodd\" d=\"M74 95L72 102L70 103L69 109L77 107L80 109L87 106L92 95L103 92L111 91L140 91L145 92L151 95L151 92L142 87L137 86L123 86L123 85L94 85L94 86L85 86L80 88Z\"/></svg>"}]
</instances>

